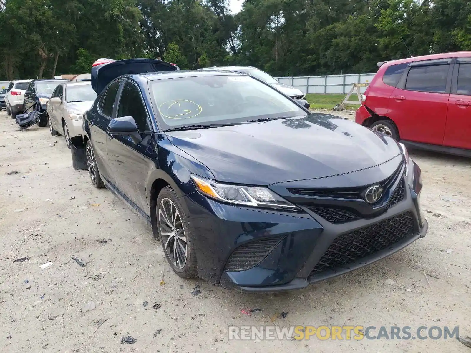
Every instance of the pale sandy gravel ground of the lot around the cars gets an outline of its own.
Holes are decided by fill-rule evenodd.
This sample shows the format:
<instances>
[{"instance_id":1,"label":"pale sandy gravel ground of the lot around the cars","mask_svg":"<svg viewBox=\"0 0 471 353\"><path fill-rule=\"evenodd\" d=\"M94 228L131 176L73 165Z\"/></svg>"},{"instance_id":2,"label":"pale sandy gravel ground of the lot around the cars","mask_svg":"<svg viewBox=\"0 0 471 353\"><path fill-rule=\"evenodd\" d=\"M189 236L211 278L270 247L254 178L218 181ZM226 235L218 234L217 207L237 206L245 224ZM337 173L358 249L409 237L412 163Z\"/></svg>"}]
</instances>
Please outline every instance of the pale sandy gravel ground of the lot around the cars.
<instances>
[{"instance_id":1,"label":"pale sandy gravel ground of the lot around the cars","mask_svg":"<svg viewBox=\"0 0 471 353\"><path fill-rule=\"evenodd\" d=\"M424 239L308 289L245 294L174 275L146 224L72 168L63 137L20 132L12 121L0 113L0 352L471 352L455 339L235 342L227 334L228 325L347 324L459 326L471 336L471 160L411 152L425 185ZM83 313L90 301L95 309ZM261 311L241 313L253 308ZM120 345L125 336L137 342Z\"/></svg>"}]
</instances>

